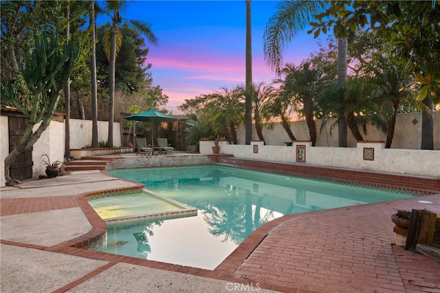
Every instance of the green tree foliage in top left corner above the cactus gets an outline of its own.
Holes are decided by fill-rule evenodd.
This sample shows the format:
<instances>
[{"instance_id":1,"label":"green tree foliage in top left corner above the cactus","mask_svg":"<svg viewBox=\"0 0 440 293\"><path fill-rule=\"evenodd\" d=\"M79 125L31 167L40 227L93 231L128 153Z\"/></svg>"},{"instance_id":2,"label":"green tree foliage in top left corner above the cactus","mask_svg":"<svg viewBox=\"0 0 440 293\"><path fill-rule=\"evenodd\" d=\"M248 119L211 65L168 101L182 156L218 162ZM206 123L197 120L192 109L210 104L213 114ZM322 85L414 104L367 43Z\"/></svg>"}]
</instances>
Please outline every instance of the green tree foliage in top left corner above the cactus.
<instances>
[{"instance_id":1,"label":"green tree foliage in top left corner above the cactus","mask_svg":"<svg viewBox=\"0 0 440 293\"><path fill-rule=\"evenodd\" d=\"M26 63L26 56L34 46L34 36L43 33L62 32L67 26L64 16L65 8L70 8L71 32L81 43L81 55L87 56L84 46L85 35L79 31L85 23L87 7L85 1L1 1L1 80L14 80L15 99L23 107L31 107L29 91L25 87L20 67ZM66 38L58 35L58 46L65 43ZM80 57L83 58L83 57ZM76 66L77 63L76 63ZM78 70L79 72L80 70ZM76 79L73 80L76 83ZM6 100L2 97L2 104ZM9 104L12 105L12 104ZM58 105L62 105L59 103ZM61 107L62 109L62 107Z\"/></svg>"}]
</instances>

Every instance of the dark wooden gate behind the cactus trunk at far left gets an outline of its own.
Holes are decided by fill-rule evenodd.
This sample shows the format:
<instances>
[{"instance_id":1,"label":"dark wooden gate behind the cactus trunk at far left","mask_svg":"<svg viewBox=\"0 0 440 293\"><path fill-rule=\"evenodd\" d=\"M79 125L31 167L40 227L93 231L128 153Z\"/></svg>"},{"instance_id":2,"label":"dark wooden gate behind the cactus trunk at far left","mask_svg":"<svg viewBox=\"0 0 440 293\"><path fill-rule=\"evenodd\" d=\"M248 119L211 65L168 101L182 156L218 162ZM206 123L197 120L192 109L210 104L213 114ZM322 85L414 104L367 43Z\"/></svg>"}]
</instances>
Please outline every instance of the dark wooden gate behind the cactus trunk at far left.
<instances>
[{"instance_id":1,"label":"dark wooden gate behind the cactus trunk at far left","mask_svg":"<svg viewBox=\"0 0 440 293\"><path fill-rule=\"evenodd\" d=\"M28 126L28 118L9 116L9 152L20 144L21 137ZM14 180L32 178L32 150L19 155L10 168L10 176Z\"/></svg>"}]
</instances>

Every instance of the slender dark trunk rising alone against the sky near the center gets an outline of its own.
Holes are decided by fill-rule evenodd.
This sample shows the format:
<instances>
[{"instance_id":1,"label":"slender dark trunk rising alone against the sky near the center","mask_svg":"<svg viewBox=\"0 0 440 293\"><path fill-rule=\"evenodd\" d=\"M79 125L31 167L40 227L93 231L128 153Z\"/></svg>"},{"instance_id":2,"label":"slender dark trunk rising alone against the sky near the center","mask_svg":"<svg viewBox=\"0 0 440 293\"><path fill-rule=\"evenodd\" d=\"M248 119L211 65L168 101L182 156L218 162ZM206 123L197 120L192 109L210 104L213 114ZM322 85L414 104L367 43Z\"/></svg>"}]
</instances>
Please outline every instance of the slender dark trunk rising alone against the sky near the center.
<instances>
[{"instance_id":1,"label":"slender dark trunk rising alone against the sky near the center","mask_svg":"<svg viewBox=\"0 0 440 293\"><path fill-rule=\"evenodd\" d=\"M246 85L245 85L245 144L252 140L252 23L250 0L246 0Z\"/></svg>"}]
</instances>

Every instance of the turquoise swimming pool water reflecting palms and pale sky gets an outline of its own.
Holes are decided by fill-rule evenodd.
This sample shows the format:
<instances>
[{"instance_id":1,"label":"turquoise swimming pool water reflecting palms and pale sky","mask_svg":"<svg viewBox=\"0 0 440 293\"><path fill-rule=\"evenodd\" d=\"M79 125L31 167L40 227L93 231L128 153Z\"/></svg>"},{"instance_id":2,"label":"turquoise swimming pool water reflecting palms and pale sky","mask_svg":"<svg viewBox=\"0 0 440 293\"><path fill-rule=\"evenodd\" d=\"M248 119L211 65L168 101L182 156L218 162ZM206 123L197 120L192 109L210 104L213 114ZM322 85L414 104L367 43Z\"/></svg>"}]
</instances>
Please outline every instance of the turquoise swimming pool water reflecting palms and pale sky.
<instances>
[{"instance_id":1,"label":"turquoise swimming pool water reflecting palms and pale sky","mask_svg":"<svg viewBox=\"0 0 440 293\"><path fill-rule=\"evenodd\" d=\"M107 245L98 250L209 270L256 228L277 217L410 197L219 165L108 173L197 208L198 215L108 224Z\"/></svg>"}]
</instances>

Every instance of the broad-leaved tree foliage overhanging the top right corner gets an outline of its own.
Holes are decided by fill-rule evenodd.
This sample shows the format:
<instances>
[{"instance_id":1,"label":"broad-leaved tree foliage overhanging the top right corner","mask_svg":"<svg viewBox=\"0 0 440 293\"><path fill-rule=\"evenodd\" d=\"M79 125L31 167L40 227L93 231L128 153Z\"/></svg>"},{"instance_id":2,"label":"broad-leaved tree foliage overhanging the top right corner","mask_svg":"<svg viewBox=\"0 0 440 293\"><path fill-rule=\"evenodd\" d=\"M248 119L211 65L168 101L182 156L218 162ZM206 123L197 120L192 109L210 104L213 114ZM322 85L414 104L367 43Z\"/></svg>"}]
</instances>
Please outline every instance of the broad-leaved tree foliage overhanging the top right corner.
<instances>
[{"instance_id":1,"label":"broad-leaved tree foliage overhanging the top right corner","mask_svg":"<svg viewBox=\"0 0 440 293\"><path fill-rule=\"evenodd\" d=\"M310 31L316 35L330 28L336 37L367 29L382 35L402 76L414 75L423 86L419 99L440 102L439 1L331 1L316 19Z\"/></svg>"}]
</instances>

